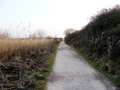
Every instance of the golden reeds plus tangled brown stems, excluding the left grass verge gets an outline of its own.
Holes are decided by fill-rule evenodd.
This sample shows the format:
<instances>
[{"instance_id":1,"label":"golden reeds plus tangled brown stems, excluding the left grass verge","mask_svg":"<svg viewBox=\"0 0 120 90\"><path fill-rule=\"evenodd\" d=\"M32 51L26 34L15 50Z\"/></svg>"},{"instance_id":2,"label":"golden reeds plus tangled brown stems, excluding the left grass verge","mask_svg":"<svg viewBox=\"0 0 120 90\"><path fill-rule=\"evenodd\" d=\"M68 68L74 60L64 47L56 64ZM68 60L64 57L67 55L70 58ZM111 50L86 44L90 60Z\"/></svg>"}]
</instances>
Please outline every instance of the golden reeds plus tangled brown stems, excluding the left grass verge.
<instances>
[{"instance_id":1,"label":"golden reeds plus tangled brown stems, excluding the left grass verge","mask_svg":"<svg viewBox=\"0 0 120 90\"><path fill-rule=\"evenodd\" d=\"M0 39L0 89L26 90L35 84L33 73L42 69L46 57L59 41L53 39Z\"/></svg>"}]
</instances>

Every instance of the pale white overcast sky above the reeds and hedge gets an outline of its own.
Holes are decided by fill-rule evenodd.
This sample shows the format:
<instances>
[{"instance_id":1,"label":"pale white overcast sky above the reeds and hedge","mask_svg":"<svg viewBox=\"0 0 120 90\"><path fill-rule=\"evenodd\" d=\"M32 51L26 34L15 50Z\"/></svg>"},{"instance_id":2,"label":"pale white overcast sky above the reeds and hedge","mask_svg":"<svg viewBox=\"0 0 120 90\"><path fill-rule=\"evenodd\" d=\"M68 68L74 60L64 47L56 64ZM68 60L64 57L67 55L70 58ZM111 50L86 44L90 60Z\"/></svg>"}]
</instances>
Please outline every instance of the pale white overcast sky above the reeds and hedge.
<instances>
[{"instance_id":1,"label":"pale white overcast sky above the reeds and hedge","mask_svg":"<svg viewBox=\"0 0 120 90\"><path fill-rule=\"evenodd\" d=\"M47 35L64 37L66 28L80 30L90 16L116 4L120 0L0 0L0 30L27 37L43 29Z\"/></svg>"}]
</instances>

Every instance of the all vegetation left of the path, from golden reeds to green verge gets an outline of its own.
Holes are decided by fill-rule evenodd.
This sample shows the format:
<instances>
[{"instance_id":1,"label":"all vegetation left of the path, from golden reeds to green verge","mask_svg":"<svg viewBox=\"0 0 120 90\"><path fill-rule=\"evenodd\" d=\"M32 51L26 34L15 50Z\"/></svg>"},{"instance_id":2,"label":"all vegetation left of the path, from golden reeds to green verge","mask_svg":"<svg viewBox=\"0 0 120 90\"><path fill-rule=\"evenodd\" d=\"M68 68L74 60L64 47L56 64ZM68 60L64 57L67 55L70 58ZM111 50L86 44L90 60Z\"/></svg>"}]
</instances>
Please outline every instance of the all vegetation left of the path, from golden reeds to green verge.
<instances>
[{"instance_id":1,"label":"all vegetation left of the path, from golden reeds to green verge","mask_svg":"<svg viewBox=\"0 0 120 90\"><path fill-rule=\"evenodd\" d=\"M39 36L42 36L39 33ZM0 35L0 90L43 90L62 38ZM52 59L51 59L52 58Z\"/></svg>"}]
</instances>

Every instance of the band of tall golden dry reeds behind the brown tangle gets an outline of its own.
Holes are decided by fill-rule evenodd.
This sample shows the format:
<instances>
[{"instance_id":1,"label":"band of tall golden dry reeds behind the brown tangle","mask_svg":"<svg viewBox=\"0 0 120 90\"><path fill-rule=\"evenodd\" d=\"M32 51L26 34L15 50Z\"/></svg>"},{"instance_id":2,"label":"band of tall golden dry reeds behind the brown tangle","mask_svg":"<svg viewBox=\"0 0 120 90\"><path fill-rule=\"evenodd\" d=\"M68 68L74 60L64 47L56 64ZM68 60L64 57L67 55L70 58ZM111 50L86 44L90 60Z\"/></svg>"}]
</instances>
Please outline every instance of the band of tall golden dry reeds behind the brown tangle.
<instances>
[{"instance_id":1,"label":"band of tall golden dry reeds behind the brown tangle","mask_svg":"<svg viewBox=\"0 0 120 90\"><path fill-rule=\"evenodd\" d=\"M18 56L26 50L42 47L51 41L49 39L0 39L0 60L5 59L13 53ZM7 59L9 60L10 58Z\"/></svg>"}]
</instances>

